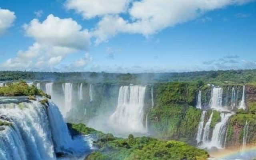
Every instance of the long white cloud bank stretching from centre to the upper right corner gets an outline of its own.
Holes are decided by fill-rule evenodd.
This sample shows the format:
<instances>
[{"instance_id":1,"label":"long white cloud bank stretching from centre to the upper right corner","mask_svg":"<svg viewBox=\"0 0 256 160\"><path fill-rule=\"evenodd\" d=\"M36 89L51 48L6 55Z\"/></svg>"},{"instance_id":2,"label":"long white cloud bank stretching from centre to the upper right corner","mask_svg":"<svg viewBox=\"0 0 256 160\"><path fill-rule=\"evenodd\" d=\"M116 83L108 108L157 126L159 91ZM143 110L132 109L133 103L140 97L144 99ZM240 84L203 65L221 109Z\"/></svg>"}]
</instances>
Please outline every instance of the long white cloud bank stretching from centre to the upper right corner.
<instances>
[{"instance_id":1,"label":"long white cloud bank stretching from centre to the upper right corner","mask_svg":"<svg viewBox=\"0 0 256 160\"><path fill-rule=\"evenodd\" d=\"M134 1L128 9L129 19L120 15L106 14L94 28L96 44L118 33L142 34L150 36L164 28L188 22L205 12L241 5L252 0L141 0Z\"/></svg>"}]
</instances>

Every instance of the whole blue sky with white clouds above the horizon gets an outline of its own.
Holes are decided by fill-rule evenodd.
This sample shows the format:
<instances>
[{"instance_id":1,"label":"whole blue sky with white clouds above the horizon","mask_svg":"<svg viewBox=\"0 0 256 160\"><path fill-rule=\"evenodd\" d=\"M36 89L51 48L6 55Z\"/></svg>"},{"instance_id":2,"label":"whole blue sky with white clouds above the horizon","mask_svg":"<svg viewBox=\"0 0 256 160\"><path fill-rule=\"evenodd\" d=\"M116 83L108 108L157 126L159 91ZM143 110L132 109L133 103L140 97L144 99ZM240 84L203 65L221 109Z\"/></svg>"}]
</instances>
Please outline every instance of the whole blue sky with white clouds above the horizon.
<instances>
[{"instance_id":1,"label":"whole blue sky with white clouds above the horizon","mask_svg":"<svg viewBox=\"0 0 256 160\"><path fill-rule=\"evenodd\" d=\"M0 0L0 70L256 68L254 0Z\"/></svg>"}]
</instances>

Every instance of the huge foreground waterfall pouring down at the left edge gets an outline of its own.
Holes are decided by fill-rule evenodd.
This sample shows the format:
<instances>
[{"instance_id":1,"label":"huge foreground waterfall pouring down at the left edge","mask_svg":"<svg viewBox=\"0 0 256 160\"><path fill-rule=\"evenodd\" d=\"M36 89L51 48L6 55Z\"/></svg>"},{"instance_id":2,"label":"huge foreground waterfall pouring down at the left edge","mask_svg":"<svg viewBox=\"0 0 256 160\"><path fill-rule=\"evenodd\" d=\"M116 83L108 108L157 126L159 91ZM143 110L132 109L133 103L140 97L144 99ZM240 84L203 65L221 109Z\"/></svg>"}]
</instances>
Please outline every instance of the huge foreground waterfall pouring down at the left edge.
<instances>
[{"instance_id":1,"label":"huge foreground waterfall pouring down at the left edge","mask_svg":"<svg viewBox=\"0 0 256 160\"><path fill-rule=\"evenodd\" d=\"M47 108L47 109L46 109ZM72 140L58 107L49 100L0 104L1 160L56 160L55 153L82 155L90 150L86 139Z\"/></svg>"}]
</instances>

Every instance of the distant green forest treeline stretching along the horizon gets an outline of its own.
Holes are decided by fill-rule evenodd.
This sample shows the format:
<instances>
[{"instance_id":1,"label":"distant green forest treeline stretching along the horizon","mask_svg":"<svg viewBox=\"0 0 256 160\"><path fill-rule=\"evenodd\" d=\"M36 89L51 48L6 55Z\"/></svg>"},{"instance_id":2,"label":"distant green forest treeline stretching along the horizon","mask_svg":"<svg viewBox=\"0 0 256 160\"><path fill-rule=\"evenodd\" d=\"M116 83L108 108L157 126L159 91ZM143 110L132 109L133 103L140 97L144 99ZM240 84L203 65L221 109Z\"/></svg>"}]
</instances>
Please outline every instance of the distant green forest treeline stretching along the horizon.
<instances>
[{"instance_id":1,"label":"distant green forest treeline stretching along the horizon","mask_svg":"<svg viewBox=\"0 0 256 160\"><path fill-rule=\"evenodd\" d=\"M256 69L218 70L182 73L120 74L106 72L22 72L0 71L0 81L12 80L87 80L88 82L154 83L172 81L204 81L249 83L256 82Z\"/></svg>"}]
</instances>

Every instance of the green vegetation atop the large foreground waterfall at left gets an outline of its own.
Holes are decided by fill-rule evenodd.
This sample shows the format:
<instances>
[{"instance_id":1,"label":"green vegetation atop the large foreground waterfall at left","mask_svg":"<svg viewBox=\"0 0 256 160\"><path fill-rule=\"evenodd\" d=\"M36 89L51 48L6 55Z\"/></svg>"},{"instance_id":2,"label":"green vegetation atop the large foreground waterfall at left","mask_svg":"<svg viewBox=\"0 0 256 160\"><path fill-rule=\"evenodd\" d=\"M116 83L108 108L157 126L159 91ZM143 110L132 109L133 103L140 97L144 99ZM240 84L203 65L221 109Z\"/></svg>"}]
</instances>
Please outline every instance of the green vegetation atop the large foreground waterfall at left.
<instances>
[{"instance_id":1,"label":"green vegetation atop the large foreground waterfall at left","mask_svg":"<svg viewBox=\"0 0 256 160\"><path fill-rule=\"evenodd\" d=\"M38 90L35 86L28 86L26 82L20 81L15 83L7 83L6 86L0 87L0 96L46 96L50 98L47 94Z\"/></svg>"}]
</instances>

